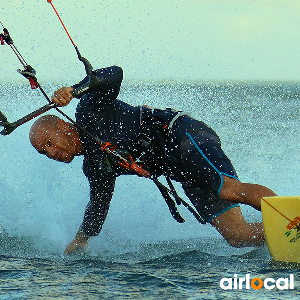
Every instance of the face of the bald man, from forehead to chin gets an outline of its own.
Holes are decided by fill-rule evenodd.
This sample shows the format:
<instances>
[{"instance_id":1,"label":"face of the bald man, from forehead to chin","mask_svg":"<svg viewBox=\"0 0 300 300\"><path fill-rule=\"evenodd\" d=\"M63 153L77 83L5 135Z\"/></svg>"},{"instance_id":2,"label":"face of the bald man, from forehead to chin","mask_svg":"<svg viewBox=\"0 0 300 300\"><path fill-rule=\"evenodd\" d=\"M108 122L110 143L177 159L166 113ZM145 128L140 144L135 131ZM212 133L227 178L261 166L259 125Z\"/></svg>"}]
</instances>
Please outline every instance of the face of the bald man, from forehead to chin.
<instances>
[{"instance_id":1,"label":"face of the bald man, from forehead to chin","mask_svg":"<svg viewBox=\"0 0 300 300\"><path fill-rule=\"evenodd\" d=\"M70 163L76 154L72 135L58 128L39 132L32 144L40 154L65 163Z\"/></svg>"}]
</instances>

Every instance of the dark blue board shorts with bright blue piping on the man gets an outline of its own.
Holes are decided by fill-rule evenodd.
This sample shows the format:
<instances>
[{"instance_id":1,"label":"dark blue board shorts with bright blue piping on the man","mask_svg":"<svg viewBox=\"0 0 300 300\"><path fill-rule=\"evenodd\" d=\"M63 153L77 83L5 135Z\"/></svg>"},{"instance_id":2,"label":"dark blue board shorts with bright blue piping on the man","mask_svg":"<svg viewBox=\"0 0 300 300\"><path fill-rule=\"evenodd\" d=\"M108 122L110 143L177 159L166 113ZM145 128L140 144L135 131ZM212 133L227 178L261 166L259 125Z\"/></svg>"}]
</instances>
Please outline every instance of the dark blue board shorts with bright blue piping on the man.
<instances>
[{"instance_id":1,"label":"dark blue board shorts with bright blue piping on the man","mask_svg":"<svg viewBox=\"0 0 300 300\"><path fill-rule=\"evenodd\" d=\"M219 197L223 175L236 179L238 176L216 132L201 121L183 116L175 122L171 133L187 174L182 187L204 221L208 223L239 206Z\"/></svg>"}]
</instances>

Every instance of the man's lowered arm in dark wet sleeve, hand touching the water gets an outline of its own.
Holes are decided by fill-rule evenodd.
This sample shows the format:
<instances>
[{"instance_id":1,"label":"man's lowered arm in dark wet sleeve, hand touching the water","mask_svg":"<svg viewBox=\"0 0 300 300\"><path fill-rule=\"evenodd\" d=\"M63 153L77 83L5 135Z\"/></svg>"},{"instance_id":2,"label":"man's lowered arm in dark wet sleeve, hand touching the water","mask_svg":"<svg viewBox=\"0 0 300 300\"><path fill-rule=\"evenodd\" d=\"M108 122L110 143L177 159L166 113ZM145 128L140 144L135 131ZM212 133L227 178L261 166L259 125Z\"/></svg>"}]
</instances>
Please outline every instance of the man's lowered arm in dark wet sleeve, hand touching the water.
<instances>
[{"instance_id":1,"label":"man's lowered arm in dark wet sleeve, hand touching the water","mask_svg":"<svg viewBox=\"0 0 300 300\"><path fill-rule=\"evenodd\" d=\"M103 176L102 180L90 180L90 201L85 209L83 222L74 240L66 247L64 254L87 245L92 236L97 236L104 224L114 191L115 178Z\"/></svg>"}]
</instances>

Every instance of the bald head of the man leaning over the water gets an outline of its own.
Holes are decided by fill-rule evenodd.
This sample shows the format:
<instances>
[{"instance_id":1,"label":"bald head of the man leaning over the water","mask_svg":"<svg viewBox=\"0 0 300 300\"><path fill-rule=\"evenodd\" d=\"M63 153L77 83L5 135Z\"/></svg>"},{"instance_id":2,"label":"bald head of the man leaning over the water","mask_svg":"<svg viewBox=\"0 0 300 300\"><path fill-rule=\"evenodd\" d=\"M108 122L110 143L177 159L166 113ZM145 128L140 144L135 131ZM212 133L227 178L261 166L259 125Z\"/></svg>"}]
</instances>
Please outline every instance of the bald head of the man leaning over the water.
<instances>
[{"instance_id":1,"label":"bald head of the man leaning over the water","mask_svg":"<svg viewBox=\"0 0 300 300\"><path fill-rule=\"evenodd\" d=\"M47 157L69 163L81 154L81 142L75 126L53 114L37 119L29 133L32 146Z\"/></svg>"}]
</instances>

